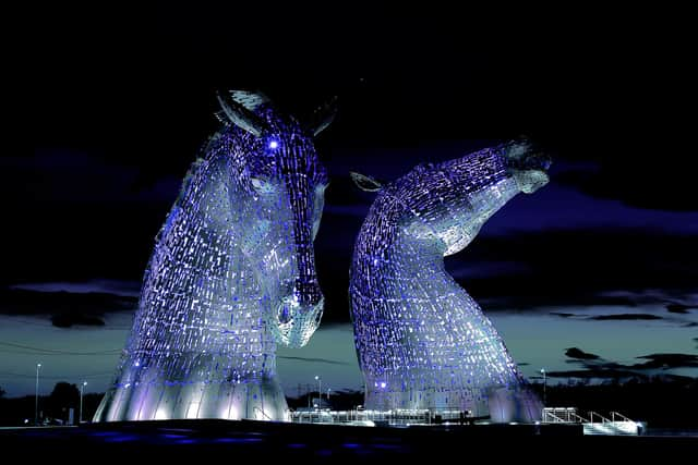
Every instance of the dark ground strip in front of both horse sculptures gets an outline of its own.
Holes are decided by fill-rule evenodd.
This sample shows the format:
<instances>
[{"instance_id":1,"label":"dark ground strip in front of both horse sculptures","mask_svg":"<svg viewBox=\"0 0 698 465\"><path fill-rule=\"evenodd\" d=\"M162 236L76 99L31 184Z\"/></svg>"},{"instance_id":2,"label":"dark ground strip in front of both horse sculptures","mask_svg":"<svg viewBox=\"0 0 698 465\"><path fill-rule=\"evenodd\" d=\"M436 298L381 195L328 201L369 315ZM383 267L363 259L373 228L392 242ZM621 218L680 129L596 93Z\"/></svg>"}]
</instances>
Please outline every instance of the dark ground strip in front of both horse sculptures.
<instances>
[{"instance_id":1,"label":"dark ground strip in front of both horse sculptures","mask_svg":"<svg viewBox=\"0 0 698 465\"><path fill-rule=\"evenodd\" d=\"M490 425L457 427L349 427L263 421L165 420L82 427L0 430L4 451L33 456L128 458L221 457L229 461L280 457L287 463L385 463L419 460L465 462L485 454L494 458L569 458L589 461L647 458L652 453L681 456L695 450L688 437L585 437L577 427ZM7 453L7 452L5 452ZM205 455L203 455L205 454ZM225 455L224 455L225 454ZM582 454L582 455L579 455ZM684 455L686 456L686 455Z\"/></svg>"}]
</instances>

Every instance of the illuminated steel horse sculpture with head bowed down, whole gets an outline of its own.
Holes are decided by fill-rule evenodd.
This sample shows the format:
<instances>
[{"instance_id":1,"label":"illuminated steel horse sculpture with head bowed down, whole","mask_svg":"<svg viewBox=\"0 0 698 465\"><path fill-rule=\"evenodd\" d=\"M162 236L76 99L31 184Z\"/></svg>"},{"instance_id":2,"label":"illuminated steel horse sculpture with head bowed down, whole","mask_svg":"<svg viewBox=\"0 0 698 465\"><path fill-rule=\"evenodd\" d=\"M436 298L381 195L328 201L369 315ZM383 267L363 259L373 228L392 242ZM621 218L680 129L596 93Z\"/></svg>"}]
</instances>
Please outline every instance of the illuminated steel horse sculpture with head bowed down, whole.
<instances>
[{"instance_id":1,"label":"illuminated steel horse sculpture with head bowed down, whole","mask_svg":"<svg viewBox=\"0 0 698 465\"><path fill-rule=\"evenodd\" d=\"M139 310L96 421L288 419L276 344L320 323L313 240L326 171L312 126L258 94L218 95L225 126L192 166L156 237Z\"/></svg>"}]
</instances>

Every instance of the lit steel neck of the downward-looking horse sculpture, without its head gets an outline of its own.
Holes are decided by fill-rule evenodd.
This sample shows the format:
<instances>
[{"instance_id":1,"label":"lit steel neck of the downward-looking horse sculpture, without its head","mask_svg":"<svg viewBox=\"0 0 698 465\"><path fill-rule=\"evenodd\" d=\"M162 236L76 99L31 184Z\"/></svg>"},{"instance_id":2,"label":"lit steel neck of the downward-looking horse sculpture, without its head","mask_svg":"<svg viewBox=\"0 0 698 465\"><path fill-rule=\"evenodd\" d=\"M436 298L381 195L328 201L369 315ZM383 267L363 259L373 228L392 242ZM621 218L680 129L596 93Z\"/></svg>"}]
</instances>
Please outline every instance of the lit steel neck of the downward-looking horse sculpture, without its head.
<instances>
[{"instance_id":1,"label":"lit steel neck of the downward-looking horse sculpture, without its head","mask_svg":"<svg viewBox=\"0 0 698 465\"><path fill-rule=\"evenodd\" d=\"M269 298L236 243L226 171L218 157L192 168L151 258L98 420L286 417Z\"/></svg>"}]
</instances>

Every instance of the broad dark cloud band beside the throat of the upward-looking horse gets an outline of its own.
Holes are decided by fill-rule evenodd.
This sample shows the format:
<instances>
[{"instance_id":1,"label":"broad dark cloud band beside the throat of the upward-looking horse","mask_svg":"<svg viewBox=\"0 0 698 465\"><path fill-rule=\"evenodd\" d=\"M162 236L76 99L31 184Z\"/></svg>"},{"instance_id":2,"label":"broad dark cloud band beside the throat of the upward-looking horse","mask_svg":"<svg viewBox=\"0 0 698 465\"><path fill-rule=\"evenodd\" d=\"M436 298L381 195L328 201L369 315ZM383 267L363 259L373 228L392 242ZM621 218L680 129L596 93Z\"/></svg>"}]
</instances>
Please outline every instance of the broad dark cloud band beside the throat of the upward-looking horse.
<instances>
[{"instance_id":1,"label":"broad dark cloud band beside the throat of the upward-looking horse","mask_svg":"<svg viewBox=\"0 0 698 465\"><path fill-rule=\"evenodd\" d=\"M667 235L651 230L593 229L480 236L462 253L447 258L522 262L527 273L460 281L476 299L490 308L545 305L634 305L613 290L641 292L661 289L666 297L683 298L698 282L698 237ZM565 272L561 272L565 270ZM502 298L505 296L506 298ZM664 297L664 298L666 298ZM657 301L655 301L657 302Z\"/></svg>"}]
</instances>

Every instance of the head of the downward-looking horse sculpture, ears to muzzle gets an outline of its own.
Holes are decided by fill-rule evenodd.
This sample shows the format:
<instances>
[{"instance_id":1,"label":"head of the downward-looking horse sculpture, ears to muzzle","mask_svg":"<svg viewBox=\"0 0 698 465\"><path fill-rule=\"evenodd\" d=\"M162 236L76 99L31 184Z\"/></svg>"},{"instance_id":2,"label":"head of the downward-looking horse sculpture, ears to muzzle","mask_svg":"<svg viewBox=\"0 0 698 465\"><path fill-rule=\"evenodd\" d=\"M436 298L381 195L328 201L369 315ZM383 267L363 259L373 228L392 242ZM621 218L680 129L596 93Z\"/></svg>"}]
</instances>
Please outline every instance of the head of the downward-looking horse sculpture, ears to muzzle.
<instances>
[{"instance_id":1,"label":"head of the downward-looking horse sculpture, ears to muzzle","mask_svg":"<svg viewBox=\"0 0 698 465\"><path fill-rule=\"evenodd\" d=\"M231 220L252 227L231 229L233 242L267 286L272 314L265 320L276 341L302 346L323 310L313 241L327 173L313 137L330 123L334 107L321 107L311 124L301 125L279 115L261 94L219 93L217 99L217 115L231 127L209 146L229 157L228 198L237 216Z\"/></svg>"}]
</instances>

